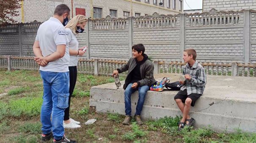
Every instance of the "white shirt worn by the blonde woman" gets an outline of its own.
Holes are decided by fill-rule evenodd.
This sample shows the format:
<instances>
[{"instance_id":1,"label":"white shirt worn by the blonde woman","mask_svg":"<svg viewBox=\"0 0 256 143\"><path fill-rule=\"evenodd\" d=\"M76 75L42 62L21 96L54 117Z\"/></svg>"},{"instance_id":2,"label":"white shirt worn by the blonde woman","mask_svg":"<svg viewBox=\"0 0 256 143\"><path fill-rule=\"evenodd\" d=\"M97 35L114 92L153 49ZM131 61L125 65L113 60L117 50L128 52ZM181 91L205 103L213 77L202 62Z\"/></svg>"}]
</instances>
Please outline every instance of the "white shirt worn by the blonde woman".
<instances>
[{"instance_id":1,"label":"white shirt worn by the blonde woman","mask_svg":"<svg viewBox=\"0 0 256 143\"><path fill-rule=\"evenodd\" d=\"M71 31L71 29L66 28L66 35L69 40L69 49L72 50L78 50L78 41L77 37L75 34ZM70 55L70 61L69 61L69 66L77 66L78 63L78 55Z\"/></svg>"}]
</instances>

